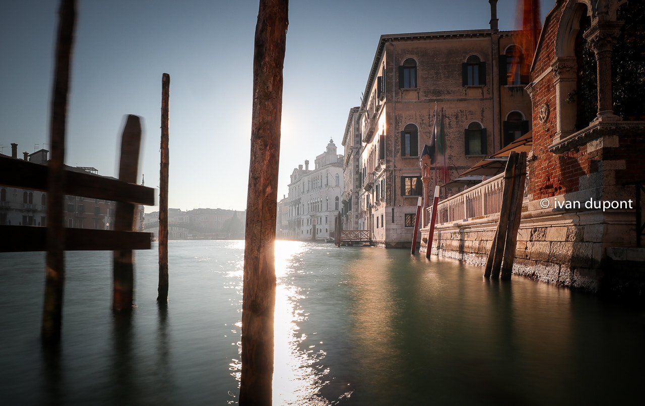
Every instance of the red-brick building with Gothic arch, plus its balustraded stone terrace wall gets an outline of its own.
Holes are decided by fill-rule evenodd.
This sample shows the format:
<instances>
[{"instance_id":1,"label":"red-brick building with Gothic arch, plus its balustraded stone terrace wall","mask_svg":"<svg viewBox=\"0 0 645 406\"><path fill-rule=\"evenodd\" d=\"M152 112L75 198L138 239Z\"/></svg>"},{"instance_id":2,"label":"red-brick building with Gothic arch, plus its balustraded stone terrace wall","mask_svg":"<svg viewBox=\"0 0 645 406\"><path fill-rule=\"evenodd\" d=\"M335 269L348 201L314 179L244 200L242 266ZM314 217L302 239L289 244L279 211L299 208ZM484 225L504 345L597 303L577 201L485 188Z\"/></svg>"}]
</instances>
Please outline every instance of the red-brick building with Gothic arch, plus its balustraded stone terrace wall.
<instances>
[{"instance_id":1,"label":"red-brick building with Gothic arch, plus its balustraded stone terrace wall","mask_svg":"<svg viewBox=\"0 0 645 406\"><path fill-rule=\"evenodd\" d=\"M547 14L526 86L533 130L515 274L642 298L644 27L635 1L561 0ZM502 177L439 204L433 253L485 263Z\"/></svg>"}]
</instances>

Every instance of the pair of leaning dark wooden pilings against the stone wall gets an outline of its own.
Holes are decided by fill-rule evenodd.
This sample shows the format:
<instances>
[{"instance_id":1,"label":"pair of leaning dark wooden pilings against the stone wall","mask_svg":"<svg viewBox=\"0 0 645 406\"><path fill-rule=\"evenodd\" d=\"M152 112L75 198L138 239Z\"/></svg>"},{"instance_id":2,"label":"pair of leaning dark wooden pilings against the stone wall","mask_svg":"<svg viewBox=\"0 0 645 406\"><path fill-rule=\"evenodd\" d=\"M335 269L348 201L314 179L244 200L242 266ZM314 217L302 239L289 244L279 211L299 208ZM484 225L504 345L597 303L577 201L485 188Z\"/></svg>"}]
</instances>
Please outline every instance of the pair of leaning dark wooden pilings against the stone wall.
<instances>
[{"instance_id":1,"label":"pair of leaning dark wooden pilings against the stone wall","mask_svg":"<svg viewBox=\"0 0 645 406\"><path fill-rule=\"evenodd\" d=\"M511 152L504 170L504 192L499 223L486 261L484 278L499 278L504 263L502 279L510 279L517 245L517 230L522 212L524 181L526 179L526 152Z\"/></svg>"}]
</instances>

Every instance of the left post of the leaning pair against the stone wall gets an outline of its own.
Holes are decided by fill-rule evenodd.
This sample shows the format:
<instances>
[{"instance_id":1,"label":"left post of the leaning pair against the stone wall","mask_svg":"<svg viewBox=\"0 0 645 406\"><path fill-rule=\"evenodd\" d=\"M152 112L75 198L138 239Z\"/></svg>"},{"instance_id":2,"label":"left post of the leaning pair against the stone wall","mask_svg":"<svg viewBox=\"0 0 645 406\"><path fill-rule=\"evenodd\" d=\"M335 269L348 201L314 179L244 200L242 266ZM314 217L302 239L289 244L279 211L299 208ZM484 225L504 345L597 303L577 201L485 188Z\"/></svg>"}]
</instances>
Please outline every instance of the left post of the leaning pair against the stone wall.
<instances>
[{"instance_id":1,"label":"left post of the leaning pair against the stone wall","mask_svg":"<svg viewBox=\"0 0 645 406\"><path fill-rule=\"evenodd\" d=\"M502 207L499 212L499 223L497 232L491 245L488 261L486 261L485 278L499 278L504 254L504 241L508 231L508 218L510 216L511 196L513 192L513 176L515 175L515 164L517 163L517 152L511 152L504 170L504 191L502 192Z\"/></svg>"}]
</instances>

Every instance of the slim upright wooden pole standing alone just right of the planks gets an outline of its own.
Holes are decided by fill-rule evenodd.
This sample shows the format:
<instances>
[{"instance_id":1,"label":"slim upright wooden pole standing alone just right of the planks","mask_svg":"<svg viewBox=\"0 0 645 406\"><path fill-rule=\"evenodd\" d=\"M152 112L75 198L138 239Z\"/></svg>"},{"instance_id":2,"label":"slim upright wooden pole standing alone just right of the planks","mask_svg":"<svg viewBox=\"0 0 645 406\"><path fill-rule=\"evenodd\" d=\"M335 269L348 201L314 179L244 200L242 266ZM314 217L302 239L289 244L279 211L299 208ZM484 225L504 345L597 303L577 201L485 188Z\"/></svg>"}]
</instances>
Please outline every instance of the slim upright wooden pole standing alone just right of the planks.
<instances>
[{"instance_id":1,"label":"slim upright wooden pole standing alone just right of the planks","mask_svg":"<svg viewBox=\"0 0 645 406\"><path fill-rule=\"evenodd\" d=\"M168 99L170 75L161 77L161 169L159 170L159 288L157 303L168 304Z\"/></svg>"}]
</instances>

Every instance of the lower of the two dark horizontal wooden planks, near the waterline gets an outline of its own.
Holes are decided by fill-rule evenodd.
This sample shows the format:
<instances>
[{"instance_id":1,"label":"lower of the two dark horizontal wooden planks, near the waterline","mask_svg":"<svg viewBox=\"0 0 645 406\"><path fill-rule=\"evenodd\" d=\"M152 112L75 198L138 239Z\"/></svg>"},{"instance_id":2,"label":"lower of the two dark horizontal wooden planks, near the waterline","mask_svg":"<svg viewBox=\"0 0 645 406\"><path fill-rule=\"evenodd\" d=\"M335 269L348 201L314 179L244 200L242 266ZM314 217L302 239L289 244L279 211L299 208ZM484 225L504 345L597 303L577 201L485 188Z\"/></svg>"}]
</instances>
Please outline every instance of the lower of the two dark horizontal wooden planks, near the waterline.
<instances>
[{"instance_id":1,"label":"lower of the two dark horizontal wooden planks, near the waterline","mask_svg":"<svg viewBox=\"0 0 645 406\"><path fill-rule=\"evenodd\" d=\"M45 251L46 227L0 225L0 252ZM152 232L64 228L66 251L149 250Z\"/></svg>"}]
</instances>

